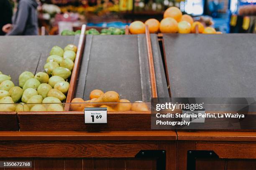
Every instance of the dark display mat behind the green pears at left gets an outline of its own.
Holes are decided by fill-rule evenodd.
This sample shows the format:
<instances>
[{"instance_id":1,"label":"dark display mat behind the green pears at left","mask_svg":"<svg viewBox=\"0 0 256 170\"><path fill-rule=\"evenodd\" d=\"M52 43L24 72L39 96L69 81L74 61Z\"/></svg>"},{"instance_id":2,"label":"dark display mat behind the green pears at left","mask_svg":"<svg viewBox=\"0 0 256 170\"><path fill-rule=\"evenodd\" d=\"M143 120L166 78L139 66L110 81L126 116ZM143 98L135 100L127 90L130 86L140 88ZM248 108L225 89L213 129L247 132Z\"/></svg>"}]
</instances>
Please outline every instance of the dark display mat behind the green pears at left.
<instances>
[{"instance_id":1,"label":"dark display mat behind the green pears at left","mask_svg":"<svg viewBox=\"0 0 256 170\"><path fill-rule=\"evenodd\" d=\"M67 44L78 45L79 36L1 36L0 71L10 75L18 85L19 75L24 71L44 71L51 47L64 48Z\"/></svg>"}]
</instances>

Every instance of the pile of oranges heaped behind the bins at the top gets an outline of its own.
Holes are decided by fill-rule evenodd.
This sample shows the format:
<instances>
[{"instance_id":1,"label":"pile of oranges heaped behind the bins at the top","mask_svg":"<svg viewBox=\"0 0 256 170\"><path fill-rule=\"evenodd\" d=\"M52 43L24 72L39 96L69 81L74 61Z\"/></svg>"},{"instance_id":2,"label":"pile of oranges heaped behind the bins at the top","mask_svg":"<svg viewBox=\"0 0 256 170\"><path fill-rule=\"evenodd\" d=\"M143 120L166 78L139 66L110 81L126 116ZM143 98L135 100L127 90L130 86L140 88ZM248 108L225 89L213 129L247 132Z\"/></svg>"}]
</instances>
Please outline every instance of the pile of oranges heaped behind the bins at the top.
<instances>
[{"instance_id":1,"label":"pile of oranges heaped behind the bins at the top","mask_svg":"<svg viewBox=\"0 0 256 170\"><path fill-rule=\"evenodd\" d=\"M202 23L193 20L190 15L182 15L181 10L177 7L169 7L164 12L164 19L159 22L158 20L151 18L146 20L145 23L141 21L134 21L129 26L131 34L144 34L145 27L148 25L150 33L162 32L162 33L205 33L205 34L218 34L222 32L216 32L212 27L204 27Z\"/></svg>"}]
</instances>

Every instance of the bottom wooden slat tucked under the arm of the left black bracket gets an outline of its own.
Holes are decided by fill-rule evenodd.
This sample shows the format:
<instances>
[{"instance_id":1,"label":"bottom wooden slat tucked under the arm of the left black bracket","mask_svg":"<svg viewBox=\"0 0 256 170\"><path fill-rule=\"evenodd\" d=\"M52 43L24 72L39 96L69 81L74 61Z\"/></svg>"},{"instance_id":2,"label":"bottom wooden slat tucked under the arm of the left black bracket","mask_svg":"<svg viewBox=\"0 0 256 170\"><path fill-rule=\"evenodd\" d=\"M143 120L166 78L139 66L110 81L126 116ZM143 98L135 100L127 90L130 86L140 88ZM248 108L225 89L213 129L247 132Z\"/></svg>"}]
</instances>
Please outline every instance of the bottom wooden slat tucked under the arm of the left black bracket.
<instances>
[{"instance_id":1,"label":"bottom wooden slat tucked under the arm of the left black bracket","mask_svg":"<svg viewBox=\"0 0 256 170\"><path fill-rule=\"evenodd\" d=\"M156 170L156 160L126 160L125 170Z\"/></svg>"}]
</instances>

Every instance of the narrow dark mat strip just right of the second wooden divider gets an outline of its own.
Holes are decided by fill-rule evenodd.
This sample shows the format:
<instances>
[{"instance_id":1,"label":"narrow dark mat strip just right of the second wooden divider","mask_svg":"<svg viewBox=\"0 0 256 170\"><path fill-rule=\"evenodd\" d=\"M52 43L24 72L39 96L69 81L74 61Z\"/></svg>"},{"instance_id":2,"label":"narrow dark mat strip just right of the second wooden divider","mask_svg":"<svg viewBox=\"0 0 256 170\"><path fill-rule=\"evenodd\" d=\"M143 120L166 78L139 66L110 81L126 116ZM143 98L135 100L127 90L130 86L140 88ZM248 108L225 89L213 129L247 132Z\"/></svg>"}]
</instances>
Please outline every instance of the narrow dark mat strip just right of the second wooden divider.
<instances>
[{"instance_id":1,"label":"narrow dark mat strip just right of the second wooden divider","mask_svg":"<svg viewBox=\"0 0 256 170\"><path fill-rule=\"evenodd\" d=\"M152 45L152 52L153 52L153 58L154 58L157 97L169 97L158 37L156 34L151 34L150 37L151 37L151 45Z\"/></svg>"}]
</instances>

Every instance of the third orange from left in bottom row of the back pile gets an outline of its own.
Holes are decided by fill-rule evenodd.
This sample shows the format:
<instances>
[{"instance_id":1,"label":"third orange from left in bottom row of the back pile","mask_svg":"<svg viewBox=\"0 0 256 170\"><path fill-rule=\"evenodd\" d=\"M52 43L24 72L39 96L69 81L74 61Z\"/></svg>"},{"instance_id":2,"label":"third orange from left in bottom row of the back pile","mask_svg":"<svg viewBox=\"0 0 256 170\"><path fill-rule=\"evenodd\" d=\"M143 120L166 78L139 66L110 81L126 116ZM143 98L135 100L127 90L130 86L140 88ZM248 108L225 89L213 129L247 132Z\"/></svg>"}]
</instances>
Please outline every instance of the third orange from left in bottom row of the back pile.
<instances>
[{"instance_id":1,"label":"third orange from left in bottom row of the back pile","mask_svg":"<svg viewBox=\"0 0 256 170\"><path fill-rule=\"evenodd\" d=\"M164 18L160 22L160 31L162 33L178 32L178 23L173 18Z\"/></svg>"}]
</instances>

